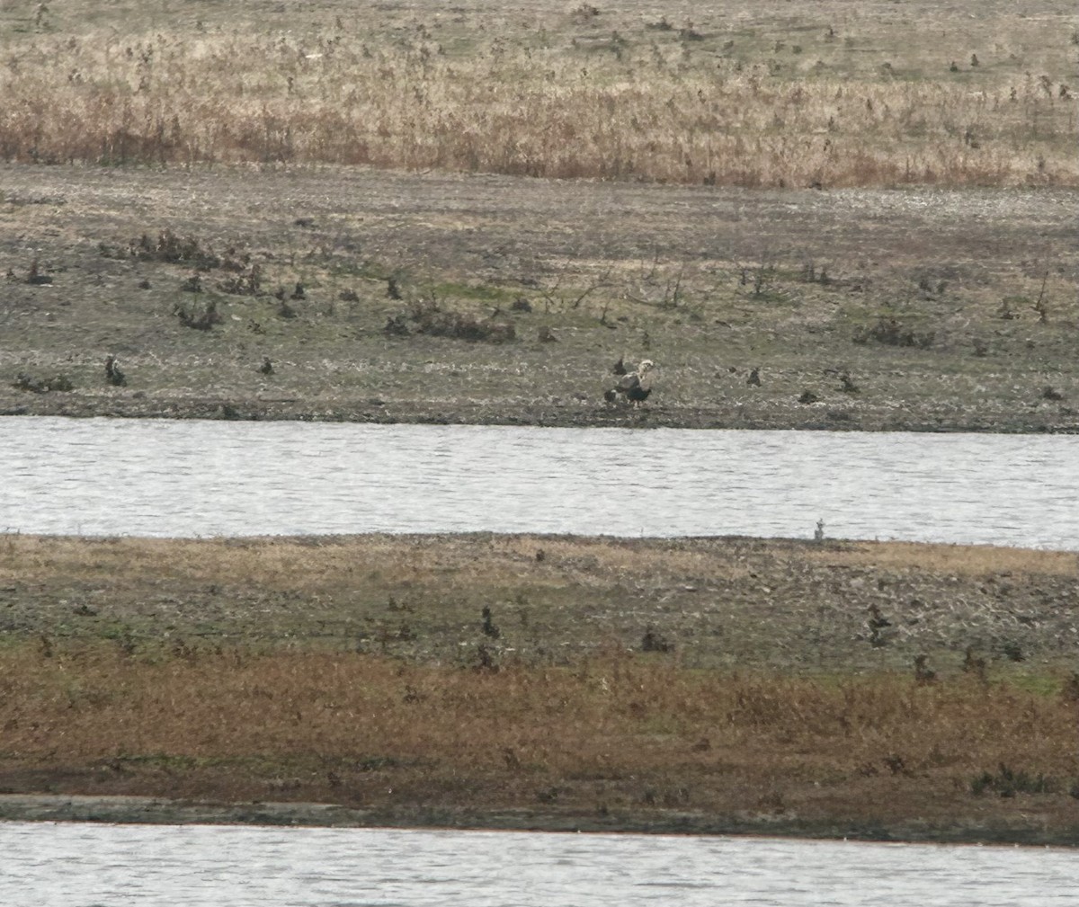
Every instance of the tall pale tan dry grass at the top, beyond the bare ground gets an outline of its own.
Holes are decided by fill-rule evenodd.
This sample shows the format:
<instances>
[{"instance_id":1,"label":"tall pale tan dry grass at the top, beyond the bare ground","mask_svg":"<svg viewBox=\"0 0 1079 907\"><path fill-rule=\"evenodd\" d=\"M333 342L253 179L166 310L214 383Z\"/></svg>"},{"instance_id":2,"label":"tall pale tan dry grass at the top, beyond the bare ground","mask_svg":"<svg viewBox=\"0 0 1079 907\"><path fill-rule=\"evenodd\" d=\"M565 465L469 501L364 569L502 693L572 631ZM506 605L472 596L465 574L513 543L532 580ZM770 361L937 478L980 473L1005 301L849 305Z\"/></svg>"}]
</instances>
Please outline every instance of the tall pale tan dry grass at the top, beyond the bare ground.
<instances>
[{"instance_id":1,"label":"tall pale tan dry grass at the top, beyond the bare ground","mask_svg":"<svg viewBox=\"0 0 1079 907\"><path fill-rule=\"evenodd\" d=\"M419 4L344 22L327 2L302 22L194 23L8 9L8 161L745 187L1079 182L1068 17L1040 5L1024 19L978 4L976 23L927 6L912 11L917 26L839 3L748 4L730 18ZM910 40L914 27L933 41Z\"/></svg>"}]
</instances>

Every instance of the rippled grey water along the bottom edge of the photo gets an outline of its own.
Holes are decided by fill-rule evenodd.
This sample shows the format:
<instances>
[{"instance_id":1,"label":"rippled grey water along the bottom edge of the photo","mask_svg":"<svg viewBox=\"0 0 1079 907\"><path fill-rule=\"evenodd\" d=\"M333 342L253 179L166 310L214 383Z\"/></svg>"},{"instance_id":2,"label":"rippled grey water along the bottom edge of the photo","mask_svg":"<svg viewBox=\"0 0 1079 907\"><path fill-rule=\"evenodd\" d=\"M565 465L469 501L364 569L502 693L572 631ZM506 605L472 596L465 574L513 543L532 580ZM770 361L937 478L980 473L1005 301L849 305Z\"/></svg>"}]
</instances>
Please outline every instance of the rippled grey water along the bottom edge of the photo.
<instances>
[{"instance_id":1,"label":"rippled grey water along the bottom edge of the photo","mask_svg":"<svg viewBox=\"0 0 1079 907\"><path fill-rule=\"evenodd\" d=\"M1071 907L1066 851L632 835L0 824L19 907Z\"/></svg>"}]
</instances>

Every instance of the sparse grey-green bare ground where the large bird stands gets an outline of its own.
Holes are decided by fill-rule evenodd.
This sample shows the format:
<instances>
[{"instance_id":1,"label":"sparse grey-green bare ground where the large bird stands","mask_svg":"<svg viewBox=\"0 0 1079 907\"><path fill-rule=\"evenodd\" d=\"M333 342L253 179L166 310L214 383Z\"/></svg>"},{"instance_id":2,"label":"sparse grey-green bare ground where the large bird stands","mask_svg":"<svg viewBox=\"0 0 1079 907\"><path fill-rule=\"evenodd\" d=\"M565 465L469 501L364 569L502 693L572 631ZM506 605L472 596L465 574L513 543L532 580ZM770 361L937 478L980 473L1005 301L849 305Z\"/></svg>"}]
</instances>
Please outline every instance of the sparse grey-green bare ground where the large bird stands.
<instances>
[{"instance_id":1,"label":"sparse grey-green bare ground where the large bird stands","mask_svg":"<svg viewBox=\"0 0 1079 907\"><path fill-rule=\"evenodd\" d=\"M9 165L0 412L1073 431L1076 197Z\"/></svg>"}]
</instances>

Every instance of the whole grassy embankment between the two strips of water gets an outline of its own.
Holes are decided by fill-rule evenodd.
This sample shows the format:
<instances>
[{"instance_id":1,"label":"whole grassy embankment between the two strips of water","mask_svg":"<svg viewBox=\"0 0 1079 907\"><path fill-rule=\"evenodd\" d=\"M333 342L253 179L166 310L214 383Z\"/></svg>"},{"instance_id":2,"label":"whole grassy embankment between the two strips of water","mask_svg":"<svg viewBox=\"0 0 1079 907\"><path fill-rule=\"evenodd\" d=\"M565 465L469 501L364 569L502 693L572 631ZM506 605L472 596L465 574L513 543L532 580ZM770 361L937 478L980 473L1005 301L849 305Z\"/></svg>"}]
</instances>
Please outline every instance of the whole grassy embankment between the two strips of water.
<instances>
[{"instance_id":1,"label":"whole grassy embankment between the two strips of water","mask_svg":"<svg viewBox=\"0 0 1079 907\"><path fill-rule=\"evenodd\" d=\"M0 787L1074 842L1076 568L739 539L10 537Z\"/></svg>"}]
</instances>

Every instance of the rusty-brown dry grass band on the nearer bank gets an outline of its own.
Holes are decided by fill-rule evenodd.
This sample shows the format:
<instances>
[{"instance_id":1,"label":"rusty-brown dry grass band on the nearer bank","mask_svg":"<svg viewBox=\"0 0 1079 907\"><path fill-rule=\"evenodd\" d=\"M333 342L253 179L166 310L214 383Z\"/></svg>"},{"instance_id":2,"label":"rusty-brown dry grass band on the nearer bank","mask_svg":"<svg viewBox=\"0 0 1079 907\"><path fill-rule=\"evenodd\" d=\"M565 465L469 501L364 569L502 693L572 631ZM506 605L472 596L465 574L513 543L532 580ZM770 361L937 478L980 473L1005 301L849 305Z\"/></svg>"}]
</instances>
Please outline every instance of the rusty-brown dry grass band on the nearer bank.
<instances>
[{"instance_id":1,"label":"rusty-brown dry grass band on the nearer bank","mask_svg":"<svg viewBox=\"0 0 1079 907\"><path fill-rule=\"evenodd\" d=\"M620 651L492 673L21 646L0 652L0 684L9 791L882 822L1035 810L1047 826L1079 810L1075 703L972 676L777 679ZM1017 801L975 796L1001 766L1025 774Z\"/></svg>"}]
</instances>

